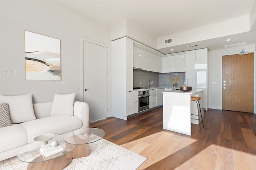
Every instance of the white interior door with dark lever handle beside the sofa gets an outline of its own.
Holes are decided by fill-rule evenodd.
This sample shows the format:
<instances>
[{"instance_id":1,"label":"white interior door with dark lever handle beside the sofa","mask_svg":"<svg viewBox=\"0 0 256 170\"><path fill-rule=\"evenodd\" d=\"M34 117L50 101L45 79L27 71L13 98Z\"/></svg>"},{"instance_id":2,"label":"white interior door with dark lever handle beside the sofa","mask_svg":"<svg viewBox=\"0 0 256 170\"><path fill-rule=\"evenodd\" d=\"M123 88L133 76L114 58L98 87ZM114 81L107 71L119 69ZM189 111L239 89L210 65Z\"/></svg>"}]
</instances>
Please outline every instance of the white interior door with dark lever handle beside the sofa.
<instances>
[{"instance_id":1,"label":"white interior door with dark lever handle beside the sofa","mask_svg":"<svg viewBox=\"0 0 256 170\"><path fill-rule=\"evenodd\" d=\"M90 121L108 117L108 47L84 41L84 102Z\"/></svg>"}]
</instances>

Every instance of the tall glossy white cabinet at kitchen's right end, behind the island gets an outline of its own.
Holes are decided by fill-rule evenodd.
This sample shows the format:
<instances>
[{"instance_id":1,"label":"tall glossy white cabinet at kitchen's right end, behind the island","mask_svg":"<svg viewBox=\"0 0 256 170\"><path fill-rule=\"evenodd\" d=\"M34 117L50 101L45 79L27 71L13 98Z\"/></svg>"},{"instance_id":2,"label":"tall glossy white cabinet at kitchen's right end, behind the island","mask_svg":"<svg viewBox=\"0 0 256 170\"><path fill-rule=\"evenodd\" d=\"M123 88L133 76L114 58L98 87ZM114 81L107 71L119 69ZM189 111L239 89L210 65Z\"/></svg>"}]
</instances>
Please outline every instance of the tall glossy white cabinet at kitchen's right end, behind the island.
<instances>
[{"instance_id":1,"label":"tall glossy white cabinet at kitchen's right end, behind the island","mask_svg":"<svg viewBox=\"0 0 256 170\"><path fill-rule=\"evenodd\" d=\"M188 54L188 55L187 55ZM191 57L192 54L194 57ZM208 77L207 60L208 49L200 49L186 52L186 80L192 90L204 90L204 100L200 100L200 106L208 110Z\"/></svg>"}]
</instances>

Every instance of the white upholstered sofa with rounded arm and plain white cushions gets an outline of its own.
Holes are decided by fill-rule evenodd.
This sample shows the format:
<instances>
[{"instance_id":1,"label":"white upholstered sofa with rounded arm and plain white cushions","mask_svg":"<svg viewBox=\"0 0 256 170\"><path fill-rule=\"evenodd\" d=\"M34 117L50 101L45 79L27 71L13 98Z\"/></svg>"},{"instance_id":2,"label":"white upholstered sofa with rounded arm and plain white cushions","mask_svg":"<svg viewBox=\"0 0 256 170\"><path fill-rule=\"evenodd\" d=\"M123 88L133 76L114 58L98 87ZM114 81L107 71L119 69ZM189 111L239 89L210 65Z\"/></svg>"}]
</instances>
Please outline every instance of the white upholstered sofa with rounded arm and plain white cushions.
<instances>
[{"instance_id":1,"label":"white upholstered sofa with rounded arm and plain white cushions","mask_svg":"<svg viewBox=\"0 0 256 170\"><path fill-rule=\"evenodd\" d=\"M74 101L73 94L71 100L70 94L56 95L53 102L37 104L32 104L31 94L0 96L0 105L8 103L11 121L11 125L0 127L0 161L16 156L25 145L34 142L33 139L38 135L65 135L90 126L88 104ZM56 113L53 113L54 110Z\"/></svg>"}]
</instances>

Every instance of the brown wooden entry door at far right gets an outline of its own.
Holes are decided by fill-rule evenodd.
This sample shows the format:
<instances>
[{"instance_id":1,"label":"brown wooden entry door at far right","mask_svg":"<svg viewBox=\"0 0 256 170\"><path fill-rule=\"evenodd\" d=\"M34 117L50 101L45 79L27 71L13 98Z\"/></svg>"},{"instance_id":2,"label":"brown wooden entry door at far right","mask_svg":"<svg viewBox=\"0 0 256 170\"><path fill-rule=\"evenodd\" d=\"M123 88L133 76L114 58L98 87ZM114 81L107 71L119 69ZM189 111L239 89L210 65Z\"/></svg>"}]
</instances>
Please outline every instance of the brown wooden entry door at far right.
<instances>
[{"instance_id":1,"label":"brown wooden entry door at far right","mask_svg":"<svg viewBox=\"0 0 256 170\"><path fill-rule=\"evenodd\" d=\"M253 113L253 53L222 56L222 109Z\"/></svg>"}]
</instances>

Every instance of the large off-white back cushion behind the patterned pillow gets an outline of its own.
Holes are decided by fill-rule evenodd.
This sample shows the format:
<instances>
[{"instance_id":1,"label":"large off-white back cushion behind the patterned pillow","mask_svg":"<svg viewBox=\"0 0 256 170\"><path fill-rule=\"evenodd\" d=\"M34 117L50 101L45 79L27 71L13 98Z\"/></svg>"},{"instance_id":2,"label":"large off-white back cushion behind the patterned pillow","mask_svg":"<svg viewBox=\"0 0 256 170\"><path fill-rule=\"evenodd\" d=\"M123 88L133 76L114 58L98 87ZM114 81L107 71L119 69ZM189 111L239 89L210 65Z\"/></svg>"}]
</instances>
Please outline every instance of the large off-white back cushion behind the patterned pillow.
<instances>
[{"instance_id":1,"label":"large off-white back cushion behind the patterned pillow","mask_svg":"<svg viewBox=\"0 0 256 170\"><path fill-rule=\"evenodd\" d=\"M0 103L8 103L12 124L36 119L32 103L32 94L0 96Z\"/></svg>"}]
</instances>

